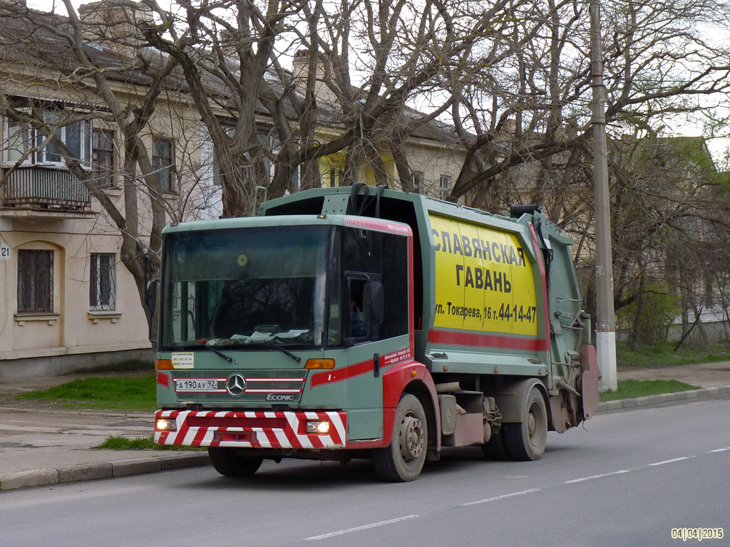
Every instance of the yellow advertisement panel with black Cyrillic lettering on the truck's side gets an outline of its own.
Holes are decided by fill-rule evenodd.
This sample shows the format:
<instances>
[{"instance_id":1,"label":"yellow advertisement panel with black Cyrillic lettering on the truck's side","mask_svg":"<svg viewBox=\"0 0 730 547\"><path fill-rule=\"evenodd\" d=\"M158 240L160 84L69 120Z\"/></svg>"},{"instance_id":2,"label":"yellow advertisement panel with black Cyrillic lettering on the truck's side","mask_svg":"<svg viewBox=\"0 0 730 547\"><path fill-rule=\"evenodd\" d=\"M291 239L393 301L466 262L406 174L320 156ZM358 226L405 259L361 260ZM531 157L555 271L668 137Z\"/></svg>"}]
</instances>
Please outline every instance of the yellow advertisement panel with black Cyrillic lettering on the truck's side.
<instances>
[{"instance_id":1,"label":"yellow advertisement panel with black Cyrillic lettering on the truck's side","mask_svg":"<svg viewBox=\"0 0 730 547\"><path fill-rule=\"evenodd\" d=\"M512 233L431 215L435 327L537 335L529 253Z\"/></svg>"}]
</instances>

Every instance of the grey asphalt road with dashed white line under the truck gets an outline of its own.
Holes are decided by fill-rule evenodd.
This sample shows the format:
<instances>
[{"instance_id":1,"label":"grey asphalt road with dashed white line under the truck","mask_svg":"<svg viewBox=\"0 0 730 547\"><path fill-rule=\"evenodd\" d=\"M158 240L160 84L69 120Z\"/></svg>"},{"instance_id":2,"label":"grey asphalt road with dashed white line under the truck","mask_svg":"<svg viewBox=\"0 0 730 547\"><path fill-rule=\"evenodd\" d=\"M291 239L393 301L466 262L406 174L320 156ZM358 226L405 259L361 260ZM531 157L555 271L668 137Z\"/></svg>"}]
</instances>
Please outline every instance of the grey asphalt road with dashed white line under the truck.
<instances>
[{"instance_id":1,"label":"grey asphalt road with dashed white line under the truck","mask_svg":"<svg viewBox=\"0 0 730 547\"><path fill-rule=\"evenodd\" d=\"M691 544L672 529L730 534L728 416L730 397L599 414L550 433L539 462L453 449L409 484L295 461L245 480L197 468L0 492L0 546Z\"/></svg>"}]
</instances>

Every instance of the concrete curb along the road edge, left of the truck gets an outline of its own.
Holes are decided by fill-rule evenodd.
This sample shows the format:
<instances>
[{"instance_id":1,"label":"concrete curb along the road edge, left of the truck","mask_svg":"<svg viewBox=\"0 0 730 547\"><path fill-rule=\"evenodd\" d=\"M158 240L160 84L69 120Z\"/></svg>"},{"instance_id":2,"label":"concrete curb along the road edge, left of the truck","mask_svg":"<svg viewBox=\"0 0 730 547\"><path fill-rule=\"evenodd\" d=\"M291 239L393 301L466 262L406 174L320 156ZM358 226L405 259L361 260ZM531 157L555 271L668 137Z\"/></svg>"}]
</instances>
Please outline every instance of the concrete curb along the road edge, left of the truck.
<instances>
[{"instance_id":1,"label":"concrete curb along the road edge, left of the truck","mask_svg":"<svg viewBox=\"0 0 730 547\"><path fill-rule=\"evenodd\" d=\"M147 458L119 459L114 462L72 465L58 469L39 469L0 473L0 490L28 486L48 486L99 478L126 477L171 469L193 468L210 463L207 453L160 455Z\"/></svg>"}]
</instances>

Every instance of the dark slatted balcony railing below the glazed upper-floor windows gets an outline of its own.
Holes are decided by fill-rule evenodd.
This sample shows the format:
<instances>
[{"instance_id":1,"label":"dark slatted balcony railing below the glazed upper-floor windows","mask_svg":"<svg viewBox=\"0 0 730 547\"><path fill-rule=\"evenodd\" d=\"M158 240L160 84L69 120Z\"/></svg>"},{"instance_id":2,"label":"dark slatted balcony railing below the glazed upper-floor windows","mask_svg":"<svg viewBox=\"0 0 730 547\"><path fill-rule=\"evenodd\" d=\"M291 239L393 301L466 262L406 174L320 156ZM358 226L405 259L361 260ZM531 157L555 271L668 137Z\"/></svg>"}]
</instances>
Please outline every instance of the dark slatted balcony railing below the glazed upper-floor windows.
<instances>
[{"instance_id":1,"label":"dark slatted balcony railing below the glazed upper-floor windows","mask_svg":"<svg viewBox=\"0 0 730 547\"><path fill-rule=\"evenodd\" d=\"M5 207L30 207L58 211L90 211L88 190L69 171L24 167L12 171L0 190Z\"/></svg>"}]
</instances>

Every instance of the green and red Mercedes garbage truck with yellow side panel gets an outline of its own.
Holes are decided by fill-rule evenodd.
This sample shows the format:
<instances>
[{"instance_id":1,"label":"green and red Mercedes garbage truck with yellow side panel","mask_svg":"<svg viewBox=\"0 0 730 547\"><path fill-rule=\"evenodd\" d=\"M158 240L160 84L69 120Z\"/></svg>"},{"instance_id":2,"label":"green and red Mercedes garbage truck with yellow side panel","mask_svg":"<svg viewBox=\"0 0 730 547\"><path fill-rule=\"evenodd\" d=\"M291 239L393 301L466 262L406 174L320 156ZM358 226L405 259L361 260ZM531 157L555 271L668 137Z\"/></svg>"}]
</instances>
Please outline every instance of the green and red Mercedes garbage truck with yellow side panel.
<instances>
[{"instance_id":1,"label":"green and red Mercedes garbage truck with yellow side panel","mask_svg":"<svg viewBox=\"0 0 730 547\"><path fill-rule=\"evenodd\" d=\"M169 225L155 441L207 447L224 476L366 458L412 481L453 446L539 459L598 400L571 243L539 206L366 185Z\"/></svg>"}]
</instances>

